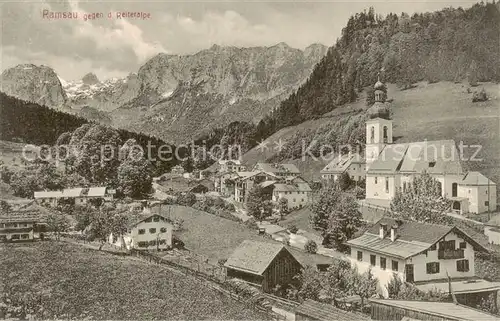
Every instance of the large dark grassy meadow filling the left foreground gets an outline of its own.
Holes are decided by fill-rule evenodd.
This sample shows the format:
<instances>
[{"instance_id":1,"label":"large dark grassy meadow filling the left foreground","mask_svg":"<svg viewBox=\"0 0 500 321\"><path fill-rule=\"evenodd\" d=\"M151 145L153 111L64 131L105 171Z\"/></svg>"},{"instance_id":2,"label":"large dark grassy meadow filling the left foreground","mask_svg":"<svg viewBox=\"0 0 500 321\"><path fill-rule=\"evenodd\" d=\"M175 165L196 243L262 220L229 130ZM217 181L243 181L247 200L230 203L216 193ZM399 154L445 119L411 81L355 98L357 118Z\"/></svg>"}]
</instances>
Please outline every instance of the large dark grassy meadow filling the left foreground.
<instances>
[{"instance_id":1,"label":"large dark grassy meadow filling the left foreground","mask_svg":"<svg viewBox=\"0 0 500 321\"><path fill-rule=\"evenodd\" d=\"M264 319L201 281L76 245L0 245L0 280L16 292L44 290L48 316L83 319ZM65 318L65 317L63 317Z\"/></svg>"}]
</instances>

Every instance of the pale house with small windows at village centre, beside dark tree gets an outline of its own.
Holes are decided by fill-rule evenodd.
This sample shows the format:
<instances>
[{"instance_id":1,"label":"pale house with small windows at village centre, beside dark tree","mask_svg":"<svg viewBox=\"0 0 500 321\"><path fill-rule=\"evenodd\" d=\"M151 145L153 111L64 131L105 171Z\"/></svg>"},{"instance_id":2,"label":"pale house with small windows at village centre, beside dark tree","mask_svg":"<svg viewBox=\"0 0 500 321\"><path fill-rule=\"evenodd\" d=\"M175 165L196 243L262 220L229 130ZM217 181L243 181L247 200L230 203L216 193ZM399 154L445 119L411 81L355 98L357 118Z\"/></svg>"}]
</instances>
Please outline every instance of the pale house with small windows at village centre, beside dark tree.
<instances>
[{"instance_id":1,"label":"pale house with small windows at village centre, beside dark tree","mask_svg":"<svg viewBox=\"0 0 500 321\"><path fill-rule=\"evenodd\" d=\"M285 180L263 182L263 185L272 185L272 200L278 202L284 198L288 202L289 209L296 209L306 206L311 202L312 189L301 177L291 176Z\"/></svg>"}]
</instances>

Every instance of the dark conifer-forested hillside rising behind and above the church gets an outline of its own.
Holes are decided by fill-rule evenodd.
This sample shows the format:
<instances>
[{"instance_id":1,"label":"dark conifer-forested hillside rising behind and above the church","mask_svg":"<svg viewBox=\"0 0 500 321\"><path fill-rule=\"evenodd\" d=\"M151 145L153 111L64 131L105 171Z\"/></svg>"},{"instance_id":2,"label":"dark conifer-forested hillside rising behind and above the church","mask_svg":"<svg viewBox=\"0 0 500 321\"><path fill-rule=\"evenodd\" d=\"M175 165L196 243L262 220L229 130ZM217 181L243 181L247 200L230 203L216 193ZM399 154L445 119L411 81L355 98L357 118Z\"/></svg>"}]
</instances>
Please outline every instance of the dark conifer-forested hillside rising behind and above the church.
<instances>
[{"instance_id":1,"label":"dark conifer-forested hillside rising behind and above the church","mask_svg":"<svg viewBox=\"0 0 500 321\"><path fill-rule=\"evenodd\" d=\"M246 146L281 128L320 117L353 102L380 76L412 88L418 81L500 80L500 12L498 3L446 8L409 16L368 12L351 17L341 38L316 65L307 82L257 126L241 126ZM249 130L251 128L251 130ZM233 137L219 129L214 135ZM350 137L350 139L356 139ZM347 143L347 142L339 142Z\"/></svg>"}]
</instances>

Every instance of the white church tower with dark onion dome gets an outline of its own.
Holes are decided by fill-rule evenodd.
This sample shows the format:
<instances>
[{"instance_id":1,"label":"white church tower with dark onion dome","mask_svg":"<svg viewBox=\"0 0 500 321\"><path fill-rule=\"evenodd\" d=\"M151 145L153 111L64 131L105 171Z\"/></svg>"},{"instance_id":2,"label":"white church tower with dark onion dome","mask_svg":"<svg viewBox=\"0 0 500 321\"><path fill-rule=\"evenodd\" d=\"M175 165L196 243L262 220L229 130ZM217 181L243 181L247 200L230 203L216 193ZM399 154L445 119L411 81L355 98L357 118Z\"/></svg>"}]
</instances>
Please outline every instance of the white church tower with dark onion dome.
<instances>
[{"instance_id":1,"label":"white church tower with dark onion dome","mask_svg":"<svg viewBox=\"0 0 500 321\"><path fill-rule=\"evenodd\" d=\"M370 119L366 121L366 169L370 168L371 163L379 157L387 144L392 144L392 120L385 102L386 86L378 79L373 89L375 103L368 109Z\"/></svg>"}]
</instances>

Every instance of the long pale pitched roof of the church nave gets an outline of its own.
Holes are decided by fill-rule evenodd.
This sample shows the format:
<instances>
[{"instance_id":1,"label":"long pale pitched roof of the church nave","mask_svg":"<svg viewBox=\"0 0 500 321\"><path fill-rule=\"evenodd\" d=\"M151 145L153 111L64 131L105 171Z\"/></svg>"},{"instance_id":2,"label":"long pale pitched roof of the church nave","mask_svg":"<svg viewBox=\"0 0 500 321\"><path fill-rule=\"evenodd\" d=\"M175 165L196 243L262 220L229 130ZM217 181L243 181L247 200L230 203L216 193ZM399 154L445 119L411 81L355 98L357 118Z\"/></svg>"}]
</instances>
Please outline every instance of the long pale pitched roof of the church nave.
<instances>
[{"instance_id":1,"label":"long pale pitched roof of the church nave","mask_svg":"<svg viewBox=\"0 0 500 321\"><path fill-rule=\"evenodd\" d=\"M453 140L386 145L368 173L461 174L459 154Z\"/></svg>"}]
</instances>

